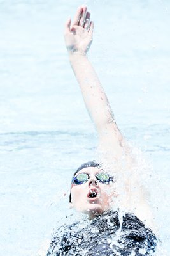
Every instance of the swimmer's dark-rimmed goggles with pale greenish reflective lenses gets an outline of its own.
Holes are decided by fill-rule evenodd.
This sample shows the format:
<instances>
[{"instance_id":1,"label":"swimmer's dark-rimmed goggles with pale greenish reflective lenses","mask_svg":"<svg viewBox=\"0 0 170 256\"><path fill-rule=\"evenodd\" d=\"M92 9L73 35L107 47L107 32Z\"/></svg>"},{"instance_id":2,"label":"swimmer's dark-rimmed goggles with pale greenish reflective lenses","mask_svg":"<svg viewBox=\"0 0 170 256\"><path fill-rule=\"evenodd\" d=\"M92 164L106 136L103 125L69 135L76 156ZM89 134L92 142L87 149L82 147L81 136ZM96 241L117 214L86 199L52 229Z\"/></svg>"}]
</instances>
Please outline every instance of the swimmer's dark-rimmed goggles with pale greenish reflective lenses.
<instances>
[{"instance_id":1,"label":"swimmer's dark-rimmed goggles with pale greenish reflective lenses","mask_svg":"<svg viewBox=\"0 0 170 256\"><path fill-rule=\"evenodd\" d=\"M108 173L97 173L95 175L96 179L104 184L109 184L113 182L113 176L109 175ZM79 173L75 176L72 180L72 184L81 185L87 182L90 179L90 175L88 173Z\"/></svg>"}]
</instances>

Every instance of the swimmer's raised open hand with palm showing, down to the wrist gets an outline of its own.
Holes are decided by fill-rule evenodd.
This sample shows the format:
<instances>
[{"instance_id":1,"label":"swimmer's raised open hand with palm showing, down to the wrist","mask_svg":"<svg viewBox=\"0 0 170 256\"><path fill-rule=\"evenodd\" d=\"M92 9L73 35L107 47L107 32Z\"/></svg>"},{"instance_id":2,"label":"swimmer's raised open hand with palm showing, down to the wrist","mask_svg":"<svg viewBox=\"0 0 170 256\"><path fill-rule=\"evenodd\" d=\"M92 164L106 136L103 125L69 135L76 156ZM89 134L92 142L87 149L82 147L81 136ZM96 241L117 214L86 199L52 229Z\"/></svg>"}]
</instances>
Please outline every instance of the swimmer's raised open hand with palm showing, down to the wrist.
<instances>
[{"instance_id":1,"label":"swimmer's raised open hand with palm showing, down to the wrist","mask_svg":"<svg viewBox=\"0 0 170 256\"><path fill-rule=\"evenodd\" d=\"M71 26L71 18L65 25L64 39L66 41L67 51L80 52L86 55L92 44L92 33L94 23L90 22L90 12L87 12L86 6L80 6L74 17Z\"/></svg>"}]
</instances>

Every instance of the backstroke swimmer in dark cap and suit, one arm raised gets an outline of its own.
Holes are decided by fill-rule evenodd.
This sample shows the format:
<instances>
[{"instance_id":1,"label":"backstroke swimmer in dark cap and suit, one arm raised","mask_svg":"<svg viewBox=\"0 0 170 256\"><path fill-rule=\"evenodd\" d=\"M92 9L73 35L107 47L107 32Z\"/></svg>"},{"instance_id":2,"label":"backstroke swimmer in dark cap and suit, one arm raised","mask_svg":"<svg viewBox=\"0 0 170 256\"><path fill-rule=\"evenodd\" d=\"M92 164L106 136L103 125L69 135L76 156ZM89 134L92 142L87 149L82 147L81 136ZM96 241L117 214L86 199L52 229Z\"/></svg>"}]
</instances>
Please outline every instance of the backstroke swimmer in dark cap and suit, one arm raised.
<instances>
[{"instance_id":1,"label":"backstroke swimmer in dark cap and suit, one arm raised","mask_svg":"<svg viewBox=\"0 0 170 256\"><path fill-rule=\"evenodd\" d=\"M100 161L90 159L76 170L69 195L70 206L86 214L89 224L60 227L46 255L150 255L157 246L152 210L131 147L87 58L93 31L87 6L64 29L69 61L99 138Z\"/></svg>"}]
</instances>

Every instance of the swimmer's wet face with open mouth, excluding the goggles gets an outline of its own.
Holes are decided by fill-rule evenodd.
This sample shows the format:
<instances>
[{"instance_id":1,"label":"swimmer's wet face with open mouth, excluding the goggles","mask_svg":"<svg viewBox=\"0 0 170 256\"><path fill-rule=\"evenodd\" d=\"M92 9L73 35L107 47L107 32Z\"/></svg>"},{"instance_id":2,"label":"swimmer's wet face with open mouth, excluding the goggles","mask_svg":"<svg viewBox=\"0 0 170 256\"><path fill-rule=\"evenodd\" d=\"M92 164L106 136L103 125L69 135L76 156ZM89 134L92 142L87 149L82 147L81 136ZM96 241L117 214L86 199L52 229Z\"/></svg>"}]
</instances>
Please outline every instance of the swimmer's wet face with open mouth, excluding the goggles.
<instances>
[{"instance_id":1,"label":"swimmer's wet face with open mouth, excluding the goggles","mask_svg":"<svg viewBox=\"0 0 170 256\"><path fill-rule=\"evenodd\" d=\"M104 172L99 168L87 167L76 173L75 177L80 173L87 173L90 179L87 182L76 185L71 185L71 207L76 211L84 212L90 217L101 214L111 207L113 202L113 182L104 184L96 178L97 173ZM93 197L92 197L93 196Z\"/></svg>"}]
</instances>

